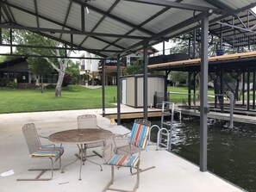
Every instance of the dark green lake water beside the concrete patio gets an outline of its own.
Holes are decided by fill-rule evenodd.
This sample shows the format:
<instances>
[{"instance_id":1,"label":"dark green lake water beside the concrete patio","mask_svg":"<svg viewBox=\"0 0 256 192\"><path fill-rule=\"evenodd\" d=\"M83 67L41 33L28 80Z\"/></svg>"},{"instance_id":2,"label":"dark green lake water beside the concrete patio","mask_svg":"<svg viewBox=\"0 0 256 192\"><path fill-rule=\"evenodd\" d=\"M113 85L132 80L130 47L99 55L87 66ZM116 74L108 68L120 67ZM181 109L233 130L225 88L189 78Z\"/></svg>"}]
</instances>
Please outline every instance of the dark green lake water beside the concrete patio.
<instances>
[{"instance_id":1,"label":"dark green lake water beside the concrete patio","mask_svg":"<svg viewBox=\"0 0 256 192\"><path fill-rule=\"evenodd\" d=\"M159 121L152 125L159 125ZM123 122L132 127L133 122ZM186 118L172 131L172 152L199 164L199 118ZM170 162L171 163L171 162ZM256 192L256 126L225 121L210 121L208 127L208 170L231 183Z\"/></svg>"}]
</instances>

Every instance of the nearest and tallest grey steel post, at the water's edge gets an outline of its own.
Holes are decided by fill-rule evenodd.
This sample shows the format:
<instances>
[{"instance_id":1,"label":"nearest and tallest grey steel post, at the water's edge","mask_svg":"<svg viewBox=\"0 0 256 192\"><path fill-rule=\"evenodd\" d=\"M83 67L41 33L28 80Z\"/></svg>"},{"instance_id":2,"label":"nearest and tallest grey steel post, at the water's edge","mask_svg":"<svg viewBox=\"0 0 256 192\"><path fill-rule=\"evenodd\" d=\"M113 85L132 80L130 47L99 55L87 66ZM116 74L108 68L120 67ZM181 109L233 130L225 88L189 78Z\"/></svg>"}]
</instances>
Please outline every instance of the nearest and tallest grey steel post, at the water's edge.
<instances>
[{"instance_id":1,"label":"nearest and tallest grey steel post, at the water's edge","mask_svg":"<svg viewBox=\"0 0 256 192\"><path fill-rule=\"evenodd\" d=\"M203 14L201 32L201 81L200 81L200 170L207 170L207 113L208 113L208 32L209 15Z\"/></svg>"}]
</instances>

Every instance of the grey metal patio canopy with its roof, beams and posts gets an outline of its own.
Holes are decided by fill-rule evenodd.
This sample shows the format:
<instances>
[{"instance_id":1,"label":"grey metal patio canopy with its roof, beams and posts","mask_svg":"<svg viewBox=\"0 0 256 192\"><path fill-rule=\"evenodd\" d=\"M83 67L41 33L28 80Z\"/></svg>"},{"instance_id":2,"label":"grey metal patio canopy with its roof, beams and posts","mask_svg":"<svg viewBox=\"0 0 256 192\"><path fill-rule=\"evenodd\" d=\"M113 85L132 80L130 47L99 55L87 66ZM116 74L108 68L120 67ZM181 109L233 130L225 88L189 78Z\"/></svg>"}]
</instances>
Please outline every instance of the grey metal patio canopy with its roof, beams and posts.
<instances>
[{"instance_id":1,"label":"grey metal patio canopy with its roof, beams and posts","mask_svg":"<svg viewBox=\"0 0 256 192\"><path fill-rule=\"evenodd\" d=\"M235 34L254 33L255 15L249 15L252 26L245 25L244 17L240 18L243 11L254 6L255 0L0 0L0 28L33 31L70 48L118 61L143 48L144 118L147 118L147 46L201 28L200 170L206 171L209 23L216 28L215 34L223 25L232 28ZM214 25L215 22L219 23ZM9 45L3 46L27 45L15 45L10 40ZM119 62L117 69L120 79ZM117 103L120 120L120 81L117 81Z\"/></svg>"}]
</instances>

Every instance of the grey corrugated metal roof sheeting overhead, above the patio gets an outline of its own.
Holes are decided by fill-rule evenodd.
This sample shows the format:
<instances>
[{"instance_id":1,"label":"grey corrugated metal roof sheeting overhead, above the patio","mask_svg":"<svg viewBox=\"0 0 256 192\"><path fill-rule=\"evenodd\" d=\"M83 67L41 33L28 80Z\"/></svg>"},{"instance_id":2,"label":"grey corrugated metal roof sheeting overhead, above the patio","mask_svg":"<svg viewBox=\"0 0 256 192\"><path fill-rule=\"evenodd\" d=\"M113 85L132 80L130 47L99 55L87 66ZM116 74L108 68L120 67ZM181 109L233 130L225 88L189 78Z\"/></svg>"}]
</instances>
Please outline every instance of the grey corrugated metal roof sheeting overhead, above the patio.
<instances>
[{"instance_id":1,"label":"grey corrugated metal roof sheeting overhead, above the patio","mask_svg":"<svg viewBox=\"0 0 256 192\"><path fill-rule=\"evenodd\" d=\"M160 3L165 3L165 6ZM8 0L2 5L2 23L5 23L1 24L2 28L22 26L34 29L104 57L116 56L113 50L123 50L122 55L136 52L147 40L153 44L163 37L199 28L200 21L196 16L201 12L191 10L194 8L220 11L209 15L209 32L212 34L220 36L222 33L227 39L232 33L236 38L241 35L255 38L254 30L256 32L256 28L252 28L256 24L256 15L248 15L247 12L256 6L255 0ZM187 9L178 9L176 5ZM81 16L82 8L84 18ZM239 15L240 19L230 15ZM251 27L245 28L247 18L250 18ZM216 23L225 20L234 21L232 25L239 28ZM252 31L244 30L250 28ZM234 40L229 42L234 43Z\"/></svg>"}]
</instances>

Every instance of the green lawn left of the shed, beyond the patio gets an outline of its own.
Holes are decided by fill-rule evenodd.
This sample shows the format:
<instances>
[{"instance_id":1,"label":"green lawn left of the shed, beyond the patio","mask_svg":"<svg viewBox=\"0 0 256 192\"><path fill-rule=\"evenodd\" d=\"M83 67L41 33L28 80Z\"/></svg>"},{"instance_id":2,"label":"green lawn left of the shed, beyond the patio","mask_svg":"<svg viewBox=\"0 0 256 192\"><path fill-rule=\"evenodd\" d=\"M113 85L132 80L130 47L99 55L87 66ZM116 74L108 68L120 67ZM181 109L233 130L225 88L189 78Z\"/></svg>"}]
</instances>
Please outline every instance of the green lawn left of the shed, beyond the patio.
<instances>
[{"instance_id":1,"label":"green lawn left of the shed, beyond the patio","mask_svg":"<svg viewBox=\"0 0 256 192\"><path fill-rule=\"evenodd\" d=\"M0 90L0 114L102 108L102 89L88 89L70 85L62 90L61 97L54 96L55 90ZM116 107L116 86L105 87L105 107Z\"/></svg>"}]
</instances>

